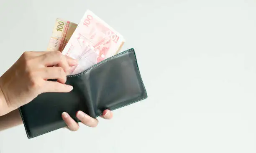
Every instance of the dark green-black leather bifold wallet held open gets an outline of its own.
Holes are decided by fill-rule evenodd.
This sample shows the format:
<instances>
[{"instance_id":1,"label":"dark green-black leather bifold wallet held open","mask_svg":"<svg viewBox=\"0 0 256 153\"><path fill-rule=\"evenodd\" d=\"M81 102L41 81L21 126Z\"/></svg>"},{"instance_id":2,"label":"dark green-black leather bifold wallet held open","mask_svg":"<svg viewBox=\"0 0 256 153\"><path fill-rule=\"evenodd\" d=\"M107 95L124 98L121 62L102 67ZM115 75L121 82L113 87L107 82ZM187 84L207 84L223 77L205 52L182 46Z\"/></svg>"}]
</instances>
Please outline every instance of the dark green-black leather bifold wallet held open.
<instances>
[{"instance_id":1,"label":"dark green-black leather bifold wallet held open","mask_svg":"<svg viewBox=\"0 0 256 153\"><path fill-rule=\"evenodd\" d=\"M57 81L56 79L50 81ZM97 118L103 110L115 110L146 99L147 93L133 48L123 51L76 75L68 75L69 93L42 93L19 108L28 138L66 126L67 112L76 118L78 110Z\"/></svg>"}]
</instances>

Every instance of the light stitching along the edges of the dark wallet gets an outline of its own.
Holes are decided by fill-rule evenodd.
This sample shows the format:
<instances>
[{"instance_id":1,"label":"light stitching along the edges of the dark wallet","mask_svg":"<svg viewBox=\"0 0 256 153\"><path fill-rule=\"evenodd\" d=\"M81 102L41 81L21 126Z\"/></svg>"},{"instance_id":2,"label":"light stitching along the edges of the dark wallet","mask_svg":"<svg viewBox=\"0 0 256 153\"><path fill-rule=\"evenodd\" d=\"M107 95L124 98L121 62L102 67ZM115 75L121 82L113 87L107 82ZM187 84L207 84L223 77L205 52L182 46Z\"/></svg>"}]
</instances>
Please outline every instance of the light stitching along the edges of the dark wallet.
<instances>
[{"instance_id":1,"label":"light stitching along the edges of the dark wallet","mask_svg":"<svg viewBox=\"0 0 256 153\"><path fill-rule=\"evenodd\" d=\"M144 92L146 93L146 88L145 88L145 86L144 86L144 84L143 84L143 81L142 81L142 78L141 78L141 73L140 73L139 68L138 68L138 63L137 63L136 55L135 55L135 52L134 52L133 48L131 48L131 49L129 49L129 50L126 50L126 51L124 51L123 53L120 53L120 54L118 54L118 55L115 55L115 56L113 56L113 57L111 57L111 58L108 58L107 60L104 60L104 61L102 61L102 62L100 62L100 63L98 63L98 64L92 66L91 68L85 70L85 71L82 72L82 73L79 73L79 74L76 74L76 75L69 75L69 76L67 76L67 78L68 78L68 77L75 77L75 76L83 75L83 74L86 73L87 71L92 70L93 68L98 67L99 65L101 65L101 64L103 64L103 63L105 63L105 62L107 62L107 61L109 61L109 60L112 60L113 58L117 58L118 56L123 55L123 54L128 53L128 52L131 52L131 51L133 51L133 56L134 56L134 59L135 59L135 63L136 63L136 67L137 67L137 71L138 71L139 77L140 77L140 79L141 79L141 84L142 84L142 86L143 86ZM52 80L54 80L54 79L52 79ZM131 103L122 105L122 106L120 106L120 107L118 107L118 108L122 108L122 107L124 107L124 106L131 105L132 103L136 103L136 102L141 101L141 100L146 99L146 98L147 98L147 93L146 93L145 97L143 97L143 98L141 98L141 99L139 99L139 100L133 101L133 102L131 102ZM118 108L115 108L115 109L118 109ZM115 110L115 109L111 109L111 110ZM20 108L19 108L19 110L20 110ZM26 133L27 133L28 138L34 138L34 137L37 137L37 136L39 136L39 135L43 135L43 134L45 134L45 133L49 133L49 132L51 132L51 131L60 129L60 128L56 128L56 129L54 129L54 130L49 130L49 131L47 131L47 132L44 132L44 133L41 133L41 134L38 134L38 135L34 135L34 136L31 137L31 136L29 136L29 134L28 134L28 131L27 131L27 128L26 128L26 123L24 122L24 119L23 119L23 115L22 115L22 111L21 111L21 110L20 110L20 115L21 115L21 118L22 118L22 120L23 120L23 123L24 123L25 130L26 130ZM99 115L97 115L97 116L100 116L100 115L102 115L102 113L99 114ZM63 127L61 127L61 128L63 128Z\"/></svg>"}]
</instances>

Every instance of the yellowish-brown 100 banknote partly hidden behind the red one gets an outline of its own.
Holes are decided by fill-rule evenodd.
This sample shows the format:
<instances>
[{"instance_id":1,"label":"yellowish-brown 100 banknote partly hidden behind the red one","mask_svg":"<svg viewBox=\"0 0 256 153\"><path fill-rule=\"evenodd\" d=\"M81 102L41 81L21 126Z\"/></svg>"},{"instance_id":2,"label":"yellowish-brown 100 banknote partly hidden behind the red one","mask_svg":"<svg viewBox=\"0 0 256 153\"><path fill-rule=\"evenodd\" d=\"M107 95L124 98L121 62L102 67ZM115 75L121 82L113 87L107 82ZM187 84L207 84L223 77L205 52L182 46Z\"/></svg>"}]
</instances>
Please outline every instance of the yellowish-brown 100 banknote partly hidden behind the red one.
<instances>
[{"instance_id":1,"label":"yellowish-brown 100 banknote partly hidden behind the red one","mask_svg":"<svg viewBox=\"0 0 256 153\"><path fill-rule=\"evenodd\" d=\"M47 50L62 51L76 28L76 23L72 23L68 20L63 20L61 18L57 18L55 21L54 29L52 31L52 35Z\"/></svg>"}]
</instances>

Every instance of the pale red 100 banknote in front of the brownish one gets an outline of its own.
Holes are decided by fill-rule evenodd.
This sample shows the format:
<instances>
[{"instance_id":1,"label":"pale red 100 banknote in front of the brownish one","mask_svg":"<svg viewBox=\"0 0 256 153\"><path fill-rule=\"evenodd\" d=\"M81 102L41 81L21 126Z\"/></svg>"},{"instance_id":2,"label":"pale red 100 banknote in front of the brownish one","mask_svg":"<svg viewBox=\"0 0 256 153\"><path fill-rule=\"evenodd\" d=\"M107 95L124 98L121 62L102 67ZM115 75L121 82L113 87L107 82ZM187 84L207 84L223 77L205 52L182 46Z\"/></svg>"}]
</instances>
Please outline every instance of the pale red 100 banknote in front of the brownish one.
<instances>
[{"instance_id":1,"label":"pale red 100 banknote in front of the brownish one","mask_svg":"<svg viewBox=\"0 0 256 153\"><path fill-rule=\"evenodd\" d=\"M71 70L77 74L117 54L124 42L120 33L87 10L62 54L79 61Z\"/></svg>"}]
</instances>

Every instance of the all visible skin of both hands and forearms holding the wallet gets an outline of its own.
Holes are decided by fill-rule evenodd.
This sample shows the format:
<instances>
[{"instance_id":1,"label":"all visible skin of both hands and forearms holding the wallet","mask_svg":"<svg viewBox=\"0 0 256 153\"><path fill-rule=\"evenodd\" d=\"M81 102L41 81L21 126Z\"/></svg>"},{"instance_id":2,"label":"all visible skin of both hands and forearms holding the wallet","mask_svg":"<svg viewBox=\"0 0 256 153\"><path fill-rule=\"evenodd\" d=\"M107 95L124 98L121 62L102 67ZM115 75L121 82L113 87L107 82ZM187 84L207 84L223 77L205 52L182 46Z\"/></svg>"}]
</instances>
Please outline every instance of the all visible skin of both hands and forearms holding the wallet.
<instances>
[{"instance_id":1,"label":"all visible skin of both hands and forearms holding the wallet","mask_svg":"<svg viewBox=\"0 0 256 153\"><path fill-rule=\"evenodd\" d=\"M18 108L25 105L39 94L45 92L70 92L73 87L66 85L67 75L77 60L64 56L59 51L28 51L0 77L0 130L5 130L22 124ZM48 79L57 79L56 82ZM60 114L69 130L79 129L68 113ZM98 120L91 118L82 111L77 112L77 118L84 125L96 127ZM101 116L111 119L113 113L104 110Z\"/></svg>"}]
</instances>

